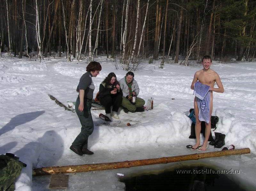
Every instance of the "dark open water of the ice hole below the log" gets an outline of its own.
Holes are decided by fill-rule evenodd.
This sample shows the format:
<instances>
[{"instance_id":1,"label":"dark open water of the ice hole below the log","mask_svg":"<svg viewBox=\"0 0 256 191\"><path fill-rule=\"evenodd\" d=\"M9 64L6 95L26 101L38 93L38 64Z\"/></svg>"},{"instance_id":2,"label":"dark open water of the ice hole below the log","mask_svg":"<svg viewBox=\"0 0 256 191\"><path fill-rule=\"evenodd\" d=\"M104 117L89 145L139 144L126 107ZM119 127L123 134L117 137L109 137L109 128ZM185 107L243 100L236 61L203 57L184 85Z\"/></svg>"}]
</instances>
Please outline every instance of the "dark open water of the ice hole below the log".
<instances>
[{"instance_id":1,"label":"dark open water of the ice hole below the log","mask_svg":"<svg viewBox=\"0 0 256 191\"><path fill-rule=\"evenodd\" d=\"M180 173L178 171L180 171ZM233 174L227 174L227 171L224 174L217 172L217 170L205 166L190 166L173 171L166 170L159 174L136 174L131 177L121 178L120 181L125 183L126 191L252 190L243 188L239 181L233 178ZM238 172L236 172L236 174L237 173Z\"/></svg>"}]
</instances>

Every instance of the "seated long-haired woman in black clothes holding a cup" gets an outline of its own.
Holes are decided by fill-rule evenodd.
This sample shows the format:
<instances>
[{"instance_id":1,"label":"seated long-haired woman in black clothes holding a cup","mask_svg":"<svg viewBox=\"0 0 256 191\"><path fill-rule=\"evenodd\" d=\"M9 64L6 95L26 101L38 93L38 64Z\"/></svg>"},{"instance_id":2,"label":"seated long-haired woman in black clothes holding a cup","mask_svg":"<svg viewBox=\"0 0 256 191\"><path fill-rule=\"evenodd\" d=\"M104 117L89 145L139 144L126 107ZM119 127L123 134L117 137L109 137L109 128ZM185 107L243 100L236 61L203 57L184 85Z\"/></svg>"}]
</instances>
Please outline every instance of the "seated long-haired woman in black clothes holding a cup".
<instances>
[{"instance_id":1,"label":"seated long-haired woman in black clothes holding a cup","mask_svg":"<svg viewBox=\"0 0 256 191\"><path fill-rule=\"evenodd\" d=\"M123 92L119 86L119 82L116 80L116 74L111 72L100 84L99 100L100 104L105 107L106 116L110 118L111 105L112 117L119 119L117 111L122 103Z\"/></svg>"}]
</instances>

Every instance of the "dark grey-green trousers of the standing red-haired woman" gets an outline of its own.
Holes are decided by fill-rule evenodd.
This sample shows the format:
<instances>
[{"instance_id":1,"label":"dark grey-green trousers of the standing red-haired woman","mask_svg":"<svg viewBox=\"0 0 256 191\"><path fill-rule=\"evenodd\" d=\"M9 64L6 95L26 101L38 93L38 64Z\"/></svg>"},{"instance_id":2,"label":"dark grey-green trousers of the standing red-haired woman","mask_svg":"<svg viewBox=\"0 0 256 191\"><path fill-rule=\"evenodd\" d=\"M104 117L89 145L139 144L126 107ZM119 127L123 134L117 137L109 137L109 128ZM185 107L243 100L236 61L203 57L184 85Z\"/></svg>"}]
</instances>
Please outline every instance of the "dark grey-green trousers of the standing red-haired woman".
<instances>
[{"instance_id":1,"label":"dark grey-green trousers of the standing red-haired woman","mask_svg":"<svg viewBox=\"0 0 256 191\"><path fill-rule=\"evenodd\" d=\"M88 137L93 132L93 121L91 114L92 101L84 99L84 110L79 111L78 106L80 104L79 98L76 99L76 114L79 118L79 121L82 125L81 132L77 135L75 141L72 145L76 148L86 149L88 146Z\"/></svg>"}]
</instances>

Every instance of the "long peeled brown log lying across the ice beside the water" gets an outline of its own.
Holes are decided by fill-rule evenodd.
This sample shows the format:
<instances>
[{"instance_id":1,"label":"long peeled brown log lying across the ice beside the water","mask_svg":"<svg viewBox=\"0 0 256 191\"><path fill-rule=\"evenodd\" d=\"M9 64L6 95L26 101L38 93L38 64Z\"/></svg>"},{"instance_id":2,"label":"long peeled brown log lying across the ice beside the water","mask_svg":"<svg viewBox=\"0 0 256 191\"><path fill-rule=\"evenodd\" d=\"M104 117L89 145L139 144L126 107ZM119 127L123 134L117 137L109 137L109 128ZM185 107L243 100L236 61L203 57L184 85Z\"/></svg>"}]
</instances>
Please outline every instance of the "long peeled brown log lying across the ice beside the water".
<instances>
[{"instance_id":1,"label":"long peeled brown log lying across the ice beside the water","mask_svg":"<svg viewBox=\"0 0 256 191\"><path fill-rule=\"evenodd\" d=\"M109 169L117 169L117 168L130 168L134 166L143 166L143 165L151 165L151 164L173 163L173 162L186 161L186 160L198 160L201 158L222 157L227 155L238 155L238 154L246 154L246 153L250 153L249 148L213 151L213 152L205 152L205 153L196 153L191 155L181 155L181 156L175 156L175 157L151 158L151 159L123 161L123 162L114 162L114 163L52 166L52 167L35 168L33 170L33 175L37 176L37 175L46 175L46 174L55 174L55 173L101 171L101 170L109 170Z\"/></svg>"}]
</instances>

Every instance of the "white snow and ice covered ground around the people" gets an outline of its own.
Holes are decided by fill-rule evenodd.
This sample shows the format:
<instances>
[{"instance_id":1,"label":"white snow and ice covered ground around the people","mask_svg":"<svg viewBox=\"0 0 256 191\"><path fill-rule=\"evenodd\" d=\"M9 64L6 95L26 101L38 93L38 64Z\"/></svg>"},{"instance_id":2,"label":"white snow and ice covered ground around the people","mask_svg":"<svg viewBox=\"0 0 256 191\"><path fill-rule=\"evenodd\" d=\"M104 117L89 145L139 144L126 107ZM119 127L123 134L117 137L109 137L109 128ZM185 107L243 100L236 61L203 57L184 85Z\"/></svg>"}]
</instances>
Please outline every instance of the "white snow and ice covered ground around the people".
<instances>
[{"instance_id":1,"label":"white snow and ice covered ground around the people","mask_svg":"<svg viewBox=\"0 0 256 191\"><path fill-rule=\"evenodd\" d=\"M115 62L106 57L95 59L102 65L100 75L93 78L96 95L101 81L110 72L117 80L126 71L116 70ZM14 153L27 164L16 182L16 190L47 190L51 176L32 178L32 169L43 166L117 162L193 154L186 145L191 121L186 112L193 108L190 89L194 73L202 65L188 67L177 64L158 66L161 60L148 64L145 60L135 79L140 86L139 96L154 97L154 109L142 113L124 113L120 120L108 125L100 119L103 110L92 110L94 132L89 137L92 156L78 156L69 146L80 132L76 113L65 111L48 94L68 105L76 101L76 86L85 73L85 62L71 63L63 58L38 60L0 57L0 154ZM211 68L219 73L225 92L213 93L213 113L219 117L216 132L226 134L226 145L236 149L250 148L251 154L200 159L152 166L132 167L99 172L69 174L68 190L124 190L116 173L160 172L180 165L206 164L216 169L240 170L232 175L244 187L255 189L256 182L256 63L213 62ZM174 98L174 99L172 99ZM132 126L126 126L126 123ZM214 133L212 133L214 135ZM203 138L201 140L203 142ZM209 145L207 151L214 151ZM231 176L231 175L230 175ZM33 180L33 181L32 181Z\"/></svg>"}]
</instances>

